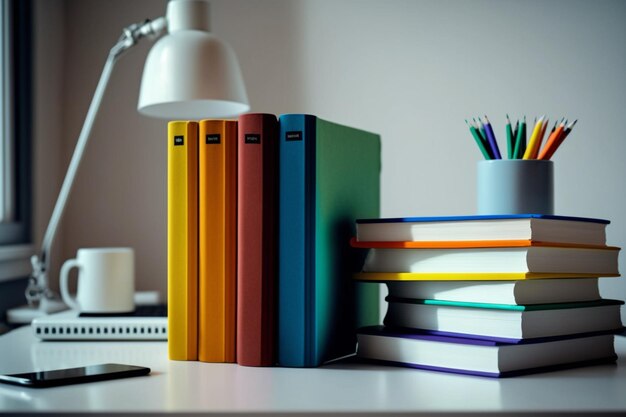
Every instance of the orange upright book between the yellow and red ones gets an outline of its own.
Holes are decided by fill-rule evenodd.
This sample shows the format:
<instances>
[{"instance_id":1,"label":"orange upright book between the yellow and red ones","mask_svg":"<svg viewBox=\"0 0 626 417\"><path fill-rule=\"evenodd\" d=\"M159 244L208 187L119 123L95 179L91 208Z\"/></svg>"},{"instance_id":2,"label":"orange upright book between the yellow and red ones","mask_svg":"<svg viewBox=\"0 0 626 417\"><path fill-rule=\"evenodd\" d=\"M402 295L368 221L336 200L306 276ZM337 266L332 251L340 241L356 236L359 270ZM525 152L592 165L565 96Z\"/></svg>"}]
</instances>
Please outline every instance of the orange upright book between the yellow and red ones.
<instances>
[{"instance_id":1,"label":"orange upright book between the yellow and red ones","mask_svg":"<svg viewBox=\"0 0 626 417\"><path fill-rule=\"evenodd\" d=\"M235 362L237 122L202 120L199 154L198 358Z\"/></svg>"}]
</instances>

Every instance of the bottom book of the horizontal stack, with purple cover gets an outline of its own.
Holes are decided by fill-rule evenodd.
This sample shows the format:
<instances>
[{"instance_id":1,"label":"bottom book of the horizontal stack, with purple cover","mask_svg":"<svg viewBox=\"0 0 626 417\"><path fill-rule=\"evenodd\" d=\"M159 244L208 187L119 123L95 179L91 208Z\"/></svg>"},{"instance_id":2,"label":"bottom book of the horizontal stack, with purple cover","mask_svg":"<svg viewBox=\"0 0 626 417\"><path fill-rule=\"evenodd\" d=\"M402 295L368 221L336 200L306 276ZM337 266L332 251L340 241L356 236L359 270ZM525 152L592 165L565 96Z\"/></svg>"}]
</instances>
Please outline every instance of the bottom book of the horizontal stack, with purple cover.
<instances>
[{"instance_id":1,"label":"bottom book of the horizontal stack, with purple cover","mask_svg":"<svg viewBox=\"0 0 626 417\"><path fill-rule=\"evenodd\" d=\"M502 343L374 326L360 329L357 339L357 356L363 359L486 377L507 377L617 359L612 334Z\"/></svg>"}]
</instances>

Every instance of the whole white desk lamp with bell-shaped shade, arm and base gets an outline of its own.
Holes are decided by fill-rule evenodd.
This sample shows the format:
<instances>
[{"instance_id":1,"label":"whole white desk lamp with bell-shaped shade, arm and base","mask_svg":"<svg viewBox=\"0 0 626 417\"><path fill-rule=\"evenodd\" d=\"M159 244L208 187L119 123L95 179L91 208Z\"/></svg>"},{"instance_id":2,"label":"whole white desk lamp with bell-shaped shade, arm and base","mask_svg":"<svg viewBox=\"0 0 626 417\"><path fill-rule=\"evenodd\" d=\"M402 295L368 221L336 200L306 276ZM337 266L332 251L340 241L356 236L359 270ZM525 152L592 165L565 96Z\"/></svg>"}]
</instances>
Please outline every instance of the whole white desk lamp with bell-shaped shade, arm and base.
<instances>
[{"instance_id":1,"label":"whole white desk lamp with bell-shaped shade, arm and base","mask_svg":"<svg viewBox=\"0 0 626 417\"><path fill-rule=\"evenodd\" d=\"M233 50L209 33L209 4L204 0L170 0L165 17L124 29L111 48L78 137L41 250L31 258L26 288L28 306L8 312L13 323L65 309L48 286L50 249L63 215L93 123L117 60L144 37L165 36L150 50L144 66L138 111L166 119L234 117L249 110L243 77Z\"/></svg>"}]
</instances>

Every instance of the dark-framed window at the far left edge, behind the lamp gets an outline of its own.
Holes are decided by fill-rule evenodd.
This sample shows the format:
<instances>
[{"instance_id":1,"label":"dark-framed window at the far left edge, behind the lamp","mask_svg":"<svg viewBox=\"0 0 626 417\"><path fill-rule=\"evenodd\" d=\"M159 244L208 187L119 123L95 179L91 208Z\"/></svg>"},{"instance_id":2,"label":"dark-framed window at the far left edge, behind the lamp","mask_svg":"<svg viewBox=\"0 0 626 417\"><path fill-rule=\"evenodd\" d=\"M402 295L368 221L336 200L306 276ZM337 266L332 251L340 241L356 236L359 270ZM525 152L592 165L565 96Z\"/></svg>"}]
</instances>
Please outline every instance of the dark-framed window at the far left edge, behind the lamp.
<instances>
[{"instance_id":1,"label":"dark-framed window at the far left edge, behind the lamp","mask_svg":"<svg viewBox=\"0 0 626 417\"><path fill-rule=\"evenodd\" d=\"M0 281L27 276L32 251L31 7L0 0Z\"/></svg>"}]
</instances>

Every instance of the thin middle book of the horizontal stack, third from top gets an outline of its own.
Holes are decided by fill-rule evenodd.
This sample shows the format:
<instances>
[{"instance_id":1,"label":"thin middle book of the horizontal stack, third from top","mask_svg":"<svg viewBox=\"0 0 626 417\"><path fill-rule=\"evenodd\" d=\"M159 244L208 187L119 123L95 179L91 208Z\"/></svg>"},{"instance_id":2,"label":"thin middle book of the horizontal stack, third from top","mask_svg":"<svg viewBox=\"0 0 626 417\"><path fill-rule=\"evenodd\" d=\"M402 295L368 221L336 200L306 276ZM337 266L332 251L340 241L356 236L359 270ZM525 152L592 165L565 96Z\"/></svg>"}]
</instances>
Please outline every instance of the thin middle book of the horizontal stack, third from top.
<instances>
[{"instance_id":1,"label":"thin middle book of the horizontal stack, third from top","mask_svg":"<svg viewBox=\"0 0 626 417\"><path fill-rule=\"evenodd\" d=\"M600 299L597 278L522 281L387 282L389 296L488 304L548 304Z\"/></svg>"}]
</instances>

